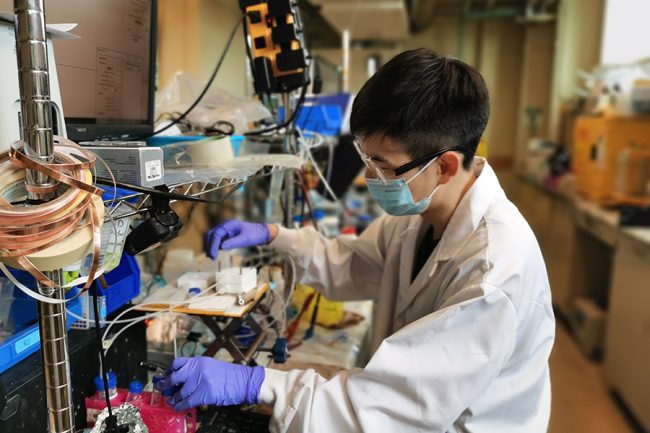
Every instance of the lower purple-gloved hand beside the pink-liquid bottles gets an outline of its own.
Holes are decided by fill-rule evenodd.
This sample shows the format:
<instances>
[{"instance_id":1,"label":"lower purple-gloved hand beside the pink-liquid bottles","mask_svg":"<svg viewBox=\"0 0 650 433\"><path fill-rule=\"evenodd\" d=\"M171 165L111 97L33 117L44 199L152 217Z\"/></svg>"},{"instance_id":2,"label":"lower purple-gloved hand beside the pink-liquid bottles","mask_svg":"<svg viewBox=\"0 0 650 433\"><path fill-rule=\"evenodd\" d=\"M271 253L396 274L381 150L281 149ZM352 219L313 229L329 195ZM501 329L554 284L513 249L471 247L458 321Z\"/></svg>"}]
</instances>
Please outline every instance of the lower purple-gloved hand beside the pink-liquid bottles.
<instances>
[{"instance_id":1,"label":"lower purple-gloved hand beside the pink-liquid bottles","mask_svg":"<svg viewBox=\"0 0 650 433\"><path fill-rule=\"evenodd\" d=\"M169 404L183 411L204 404L257 404L262 382L264 367L229 364L208 357L177 358L156 388L165 391L182 385Z\"/></svg>"}]
</instances>

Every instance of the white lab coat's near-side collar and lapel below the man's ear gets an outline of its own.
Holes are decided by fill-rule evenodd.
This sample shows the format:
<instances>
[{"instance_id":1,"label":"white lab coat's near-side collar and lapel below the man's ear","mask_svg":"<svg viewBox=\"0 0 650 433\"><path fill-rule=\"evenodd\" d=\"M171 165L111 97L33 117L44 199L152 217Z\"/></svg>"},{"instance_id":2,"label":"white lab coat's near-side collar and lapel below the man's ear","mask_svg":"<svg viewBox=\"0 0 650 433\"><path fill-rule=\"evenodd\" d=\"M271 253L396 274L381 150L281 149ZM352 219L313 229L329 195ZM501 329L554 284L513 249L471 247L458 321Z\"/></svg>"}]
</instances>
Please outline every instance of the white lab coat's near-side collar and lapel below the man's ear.
<instances>
[{"instance_id":1,"label":"white lab coat's near-side collar and lapel below the man's ear","mask_svg":"<svg viewBox=\"0 0 650 433\"><path fill-rule=\"evenodd\" d=\"M494 170L484 158L475 158L472 169L477 179L449 220L434 253L431 275L437 262L451 260L460 251L478 227L492 200L497 195L504 194Z\"/></svg>"}]
</instances>

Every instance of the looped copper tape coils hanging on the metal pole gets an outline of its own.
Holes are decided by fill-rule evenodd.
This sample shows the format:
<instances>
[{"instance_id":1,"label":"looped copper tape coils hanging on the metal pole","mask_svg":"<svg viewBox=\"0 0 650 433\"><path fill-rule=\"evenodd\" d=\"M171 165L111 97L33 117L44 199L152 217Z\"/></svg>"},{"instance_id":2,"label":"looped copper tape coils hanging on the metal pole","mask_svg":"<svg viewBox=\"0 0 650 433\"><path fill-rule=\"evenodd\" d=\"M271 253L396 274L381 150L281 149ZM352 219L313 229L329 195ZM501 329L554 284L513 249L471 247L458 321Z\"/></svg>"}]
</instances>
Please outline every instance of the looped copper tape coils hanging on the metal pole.
<instances>
[{"instance_id":1,"label":"looped copper tape coils hanging on the metal pole","mask_svg":"<svg viewBox=\"0 0 650 433\"><path fill-rule=\"evenodd\" d=\"M40 283L56 284L41 272L28 256L56 246L80 230L92 230L92 264L86 290L99 266L101 247L100 229L103 190L93 184L91 170L95 155L72 141L55 137L54 162L42 163L27 157L24 143L18 141L11 149L0 154L2 174L20 178L21 170L36 170L55 180L46 187L25 186L27 191L58 192L53 200L30 206L14 206L6 198L0 198L0 258L13 258ZM5 163L9 161L9 163ZM23 175L24 176L24 175ZM6 188L6 185L3 187ZM3 193L0 191L0 194Z\"/></svg>"}]
</instances>

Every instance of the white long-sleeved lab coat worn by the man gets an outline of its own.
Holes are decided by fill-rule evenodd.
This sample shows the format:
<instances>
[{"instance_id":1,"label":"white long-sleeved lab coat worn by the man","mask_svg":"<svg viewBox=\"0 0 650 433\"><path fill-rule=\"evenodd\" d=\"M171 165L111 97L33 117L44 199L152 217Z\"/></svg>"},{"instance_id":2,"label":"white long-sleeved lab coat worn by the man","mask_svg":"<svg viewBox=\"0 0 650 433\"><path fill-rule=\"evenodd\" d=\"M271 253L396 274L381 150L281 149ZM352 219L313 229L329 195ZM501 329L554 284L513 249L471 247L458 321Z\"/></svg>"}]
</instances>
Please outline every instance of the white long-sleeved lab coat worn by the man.
<instances>
[{"instance_id":1,"label":"white long-sleeved lab coat worn by the man","mask_svg":"<svg viewBox=\"0 0 650 433\"><path fill-rule=\"evenodd\" d=\"M411 283L419 216L379 218L358 238L281 229L272 246L335 300L373 299L364 369L325 380L267 369L272 432L542 433L555 335L542 254L492 168L478 179Z\"/></svg>"}]
</instances>

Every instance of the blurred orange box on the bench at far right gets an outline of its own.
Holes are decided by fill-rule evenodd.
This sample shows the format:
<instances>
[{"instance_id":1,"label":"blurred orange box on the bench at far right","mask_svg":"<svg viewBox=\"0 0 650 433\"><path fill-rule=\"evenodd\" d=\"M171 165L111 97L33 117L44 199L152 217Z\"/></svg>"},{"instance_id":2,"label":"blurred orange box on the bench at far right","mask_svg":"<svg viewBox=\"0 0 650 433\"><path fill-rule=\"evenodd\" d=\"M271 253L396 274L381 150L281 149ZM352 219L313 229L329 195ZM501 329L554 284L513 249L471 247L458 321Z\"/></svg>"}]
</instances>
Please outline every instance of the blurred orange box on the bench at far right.
<instances>
[{"instance_id":1,"label":"blurred orange box on the bench at far right","mask_svg":"<svg viewBox=\"0 0 650 433\"><path fill-rule=\"evenodd\" d=\"M601 205L625 202L617 189L619 178L629 176L622 156L650 150L650 117L581 116L573 139L578 194Z\"/></svg>"}]
</instances>

